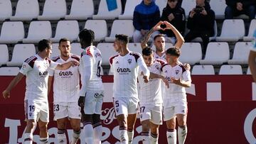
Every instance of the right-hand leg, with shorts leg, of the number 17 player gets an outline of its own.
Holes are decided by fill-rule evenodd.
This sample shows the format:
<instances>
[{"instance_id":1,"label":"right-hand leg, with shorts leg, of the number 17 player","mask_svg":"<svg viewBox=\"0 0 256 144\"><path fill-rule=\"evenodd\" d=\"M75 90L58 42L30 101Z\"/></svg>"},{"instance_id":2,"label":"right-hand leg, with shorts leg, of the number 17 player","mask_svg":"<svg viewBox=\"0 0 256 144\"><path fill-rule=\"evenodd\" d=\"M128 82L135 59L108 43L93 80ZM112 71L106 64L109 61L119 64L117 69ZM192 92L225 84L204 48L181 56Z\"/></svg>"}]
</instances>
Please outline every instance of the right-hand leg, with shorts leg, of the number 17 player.
<instances>
[{"instance_id":1,"label":"right-hand leg, with shorts leg, of the number 17 player","mask_svg":"<svg viewBox=\"0 0 256 144\"><path fill-rule=\"evenodd\" d=\"M159 135L159 125L163 124L162 120L162 106L154 106L151 109L151 119L150 119L150 143L156 144L158 142Z\"/></svg>"}]
</instances>

